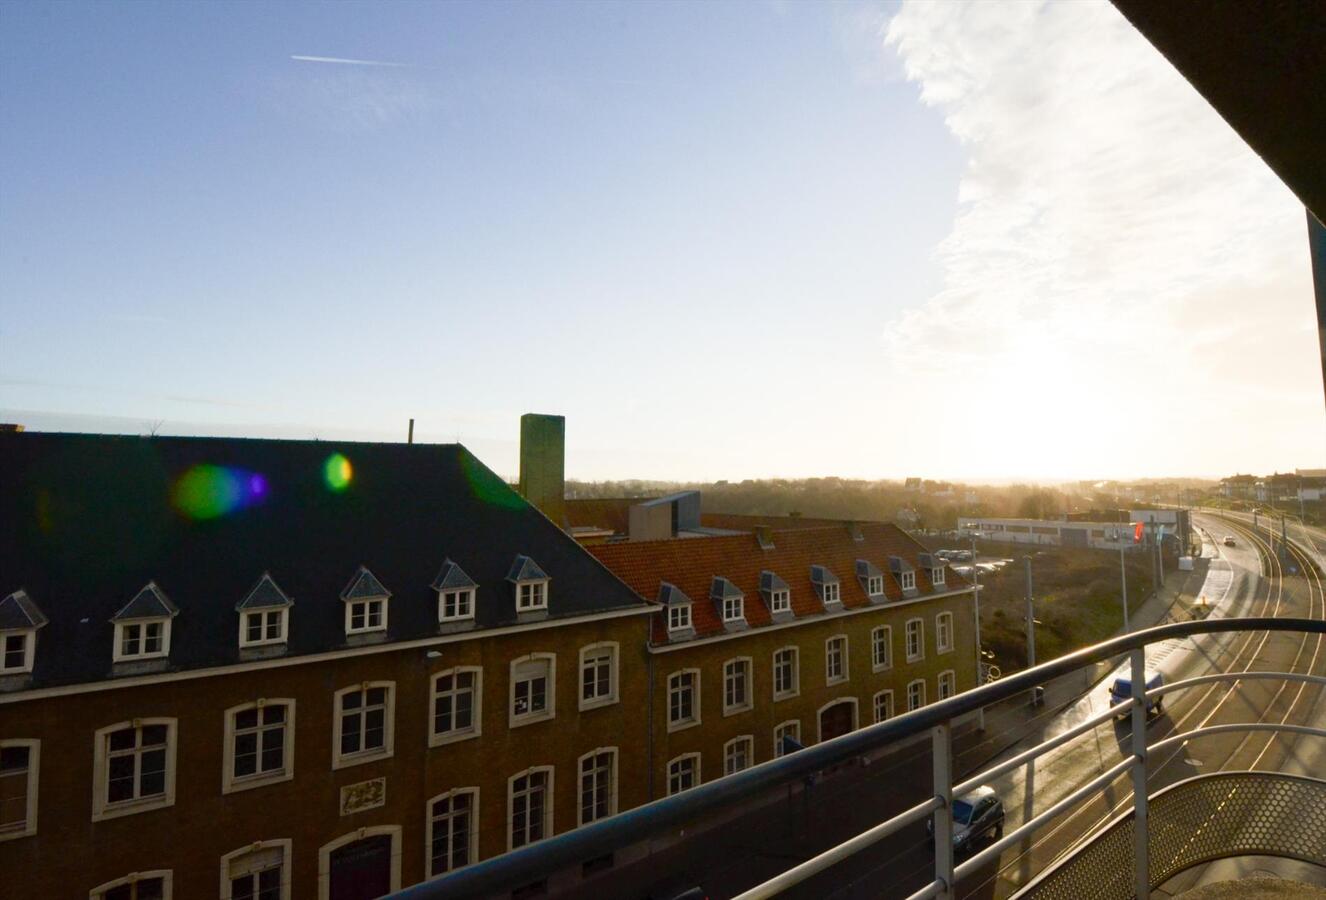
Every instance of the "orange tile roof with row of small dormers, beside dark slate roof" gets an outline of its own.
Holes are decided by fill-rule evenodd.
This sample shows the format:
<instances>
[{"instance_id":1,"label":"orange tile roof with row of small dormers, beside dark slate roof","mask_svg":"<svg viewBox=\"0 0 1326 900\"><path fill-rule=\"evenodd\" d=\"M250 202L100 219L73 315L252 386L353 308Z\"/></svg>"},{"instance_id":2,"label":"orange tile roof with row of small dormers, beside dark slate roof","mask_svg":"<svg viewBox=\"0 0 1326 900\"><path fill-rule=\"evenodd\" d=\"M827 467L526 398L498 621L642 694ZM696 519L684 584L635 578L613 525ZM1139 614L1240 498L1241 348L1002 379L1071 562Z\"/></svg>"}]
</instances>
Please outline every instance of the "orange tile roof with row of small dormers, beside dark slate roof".
<instances>
[{"instance_id":1,"label":"orange tile roof with row of small dormers, beside dark slate roof","mask_svg":"<svg viewBox=\"0 0 1326 900\"><path fill-rule=\"evenodd\" d=\"M655 600L663 582L680 589L693 600L691 620L696 638L724 632L719 611L709 599L709 586L716 575L727 578L744 592L743 612L752 628L773 624L760 594L760 573L764 570L788 582L792 611L798 619L823 612L810 582L812 566L825 566L838 577L842 604L849 610L870 606L870 598L857 578L858 559L866 559L884 573L884 594L891 600L902 600L904 595L890 570L888 557L900 557L915 567L918 592L914 596L935 592L930 573L919 559L926 547L892 524L861 522L858 528L861 541L853 538L843 522L774 530L770 550L761 549L753 534L603 543L586 549L646 599ZM941 590L967 586L952 569L947 570L944 581ZM662 615L654 620L654 642L668 643Z\"/></svg>"}]
</instances>

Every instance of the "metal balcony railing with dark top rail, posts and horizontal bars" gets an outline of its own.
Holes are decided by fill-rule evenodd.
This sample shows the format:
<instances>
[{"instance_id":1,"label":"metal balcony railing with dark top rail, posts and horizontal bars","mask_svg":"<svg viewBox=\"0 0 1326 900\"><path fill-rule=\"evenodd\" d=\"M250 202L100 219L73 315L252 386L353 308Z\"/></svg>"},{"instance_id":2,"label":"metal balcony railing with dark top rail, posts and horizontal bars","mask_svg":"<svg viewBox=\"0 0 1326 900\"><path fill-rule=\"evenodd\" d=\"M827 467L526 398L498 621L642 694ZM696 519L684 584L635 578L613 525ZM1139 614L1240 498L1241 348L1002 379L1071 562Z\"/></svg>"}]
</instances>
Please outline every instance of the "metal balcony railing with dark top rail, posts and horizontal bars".
<instances>
[{"instance_id":1,"label":"metal balcony railing with dark top rail, posts and horizontal bars","mask_svg":"<svg viewBox=\"0 0 1326 900\"><path fill-rule=\"evenodd\" d=\"M1229 672L1204 675L1185 679L1164 685L1158 691L1146 689L1146 648L1172 639L1188 638L1201 634L1220 632L1256 632L1256 631L1293 631L1306 634L1326 634L1326 622L1319 619L1294 618L1242 618L1242 619L1205 619L1200 622L1184 622L1159 626L1136 631L1122 638L1102 642L1093 647L1061 656L1042 663L1030 669L1006 675L998 681L981 685L973 691L960 693L948 700L923 706L895 718L890 718L878 725L870 725L859 730L843 734L831 741L825 741L815 746L798 750L796 753L770 759L758 766L739 771L732 775L717 778L705 785L700 785L684 793L664 799L647 803L644 806L621 813L609 819L602 819L593 824L577 828L568 834L549 838L529 847L522 847L513 852L497 856L450 875L416 884L394 895L399 900L442 900L459 897L493 896L516 891L524 885L536 883L560 870L579 866L585 860L598 859L614 851L623 850L638 842L658 836L674 828L699 819L707 814L732 809L735 805L764 795L773 787L794 785L814 775L818 771L846 763L851 759L887 749L890 745L907 738L930 733L934 748L934 795L931 799L918 803L910 810L900 813L865 832L846 840L837 847L831 847L806 862L789 868L776 877L758 884L739 895L737 900L757 900L772 897L780 892L805 881L817 872L853 856L854 854L871 847L880 839L899 831L900 828L927 816L934 816L935 834L935 877L916 891L908 900L924 900L927 897L951 897L953 889L964 875L976 871L981 866L997 859L1008 847L1030 836L1034 831L1046 824L1050 819L1077 806L1082 801L1101 791L1110 782L1123 773L1130 773L1132 779L1132 810L1127 814L1126 830L1119 827L1119 822L1110 826L1115 835L1111 838L1111 847L1119 856L1114 866L1122 866L1120 871L1127 872L1131 884L1126 885L1123 896L1146 897L1159 883L1151 864L1151 836L1148 831L1150 802L1147 797L1147 757L1166 746L1172 746L1180 741L1193 740L1204 734L1217 734L1232 730L1272 730L1299 734L1314 734L1326 737L1326 729L1288 724L1237 724L1213 725L1197 728L1175 734L1155 745L1147 745L1146 717L1148 701L1163 693L1181 691L1199 684L1215 681L1235 681L1248 679L1281 679L1286 681L1299 681L1306 684L1326 685L1326 677L1286 672ZM979 709L996 704L1001 700L1014 697L1020 693L1029 693L1033 688L1046 684L1053 679L1071 673L1087 665L1113 660L1120 655L1127 655L1131 665L1132 696L1109 709L1091 716L1074 728L1057 734L1055 737L1028 749L1024 753L992 766L972 778L960 783L953 783L952 777L952 725L955 720L975 713ZM1127 757L1113 767L1102 771L1091 781L1081 785L1077 790L1063 797L1050 807L1024 822L1013 831L981 850L969 859L957 863L952 851L952 819L951 807L955 795L963 795L973 787L1006 774L1018 766L1025 765L1073 738L1094 729L1102 722L1116 716L1131 716L1131 744ZM1158 798L1160 795L1158 794ZM1106 834L1106 832L1102 832ZM1118 852L1119 834L1126 834L1131 843L1131 852ZM1126 859L1123 859L1126 856ZM1044 876L1042 876L1044 877ZM1050 891L1044 896L1058 896Z\"/></svg>"}]
</instances>

